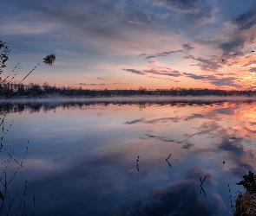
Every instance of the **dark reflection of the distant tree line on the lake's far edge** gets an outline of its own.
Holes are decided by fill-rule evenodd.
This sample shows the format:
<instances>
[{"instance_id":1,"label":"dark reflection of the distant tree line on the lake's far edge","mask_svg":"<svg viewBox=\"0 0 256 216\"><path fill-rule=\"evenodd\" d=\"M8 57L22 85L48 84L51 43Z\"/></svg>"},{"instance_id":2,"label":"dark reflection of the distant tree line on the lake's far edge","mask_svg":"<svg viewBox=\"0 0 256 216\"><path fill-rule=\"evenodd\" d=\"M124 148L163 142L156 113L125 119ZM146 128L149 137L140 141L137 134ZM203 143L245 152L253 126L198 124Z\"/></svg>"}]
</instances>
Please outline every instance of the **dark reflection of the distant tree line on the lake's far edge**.
<instances>
[{"instance_id":1,"label":"dark reflection of the distant tree line on the lake's far edge","mask_svg":"<svg viewBox=\"0 0 256 216\"><path fill-rule=\"evenodd\" d=\"M137 106L139 107L140 110L146 109L147 107L150 106L175 106L175 107L185 107L185 106L213 106L213 105L228 105L230 109L226 108L220 108L216 109L214 112L221 113L223 111L229 111L229 115L232 114L232 106L235 105L252 105L254 100L245 100L245 101L231 101L231 102L226 102L226 101L218 101L218 100L195 100L195 101L168 101L168 100L161 100L161 101L147 101L147 100L142 100L142 101L132 101L132 100L121 100L121 101L111 101L111 100L101 100L101 101L79 101L78 100L67 100L66 102L63 102L62 100L36 100L36 99L30 99L27 102L23 102L23 100L4 100L0 104L0 110L1 111L7 111L7 112L23 112L26 110L29 110L30 112L38 112L38 111L51 111L51 110L56 110L57 107L62 107L62 109L89 109L90 106L95 106L95 105L101 105L101 106L108 106L108 105L131 105L131 106ZM205 107L206 108L206 107ZM222 113L228 115L228 113ZM201 114L194 114L194 117L201 117ZM193 117L190 117L193 118ZM189 120L189 119L187 119Z\"/></svg>"}]
</instances>

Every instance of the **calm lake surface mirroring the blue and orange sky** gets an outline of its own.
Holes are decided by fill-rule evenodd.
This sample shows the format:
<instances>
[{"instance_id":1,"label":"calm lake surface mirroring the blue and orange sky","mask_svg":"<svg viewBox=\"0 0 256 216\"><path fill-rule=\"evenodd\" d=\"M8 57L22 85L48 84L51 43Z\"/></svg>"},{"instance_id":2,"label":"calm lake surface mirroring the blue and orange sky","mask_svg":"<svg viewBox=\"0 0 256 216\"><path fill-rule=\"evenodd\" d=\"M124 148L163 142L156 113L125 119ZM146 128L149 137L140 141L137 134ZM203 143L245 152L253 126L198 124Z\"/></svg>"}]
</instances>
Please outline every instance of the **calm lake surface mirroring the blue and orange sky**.
<instances>
[{"instance_id":1,"label":"calm lake surface mirroring the blue and orange sky","mask_svg":"<svg viewBox=\"0 0 256 216\"><path fill-rule=\"evenodd\" d=\"M3 215L232 215L256 171L256 102L5 109Z\"/></svg>"}]
</instances>

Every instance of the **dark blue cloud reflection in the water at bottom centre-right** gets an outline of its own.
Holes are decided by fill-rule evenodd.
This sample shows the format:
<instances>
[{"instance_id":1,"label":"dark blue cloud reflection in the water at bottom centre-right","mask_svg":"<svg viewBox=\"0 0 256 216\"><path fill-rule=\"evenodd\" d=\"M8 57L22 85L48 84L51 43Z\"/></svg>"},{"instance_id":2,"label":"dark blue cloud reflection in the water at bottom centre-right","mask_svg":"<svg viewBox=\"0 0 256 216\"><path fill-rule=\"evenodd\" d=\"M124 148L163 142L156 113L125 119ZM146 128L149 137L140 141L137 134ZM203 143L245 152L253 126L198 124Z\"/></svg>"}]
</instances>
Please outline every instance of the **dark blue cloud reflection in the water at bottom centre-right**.
<instances>
[{"instance_id":1,"label":"dark blue cloud reflection in the water at bottom centre-right","mask_svg":"<svg viewBox=\"0 0 256 216\"><path fill-rule=\"evenodd\" d=\"M212 200L211 205L209 205L199 193L199 176L207 175L207 182L212 185L213 174L198 167L194 167L192 170L193 171L189 171L186 176L182 177L181 181L176 181L167 187L157 187L151 192L149 191L147 201L135 200L128 209L124 209L119 215L211 216L225 212L225 204L223 204L224 202L220 196L216 199L216 194L207 194ZM222 205L220 205L220 203Z\"/></svg>"}]
</instances>

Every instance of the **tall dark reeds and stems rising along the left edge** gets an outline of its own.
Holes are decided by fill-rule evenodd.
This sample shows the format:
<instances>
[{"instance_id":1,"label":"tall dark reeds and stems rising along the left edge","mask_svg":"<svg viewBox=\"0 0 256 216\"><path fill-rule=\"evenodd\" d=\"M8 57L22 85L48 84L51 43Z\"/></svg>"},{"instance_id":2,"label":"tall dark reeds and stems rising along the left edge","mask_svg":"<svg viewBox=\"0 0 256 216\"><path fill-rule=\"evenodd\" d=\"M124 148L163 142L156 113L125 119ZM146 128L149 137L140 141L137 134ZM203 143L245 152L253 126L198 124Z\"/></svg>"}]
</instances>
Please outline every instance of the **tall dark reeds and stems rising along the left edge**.
<instances>
[{"instance_id":1,"label":"tall dark reeds and stems rising along the left edge","mask_svg":"<svg viewBox=\"0 0 256 216\"><path fill-rule=\"evenodd\" d=\"M28 181L26 180L24 182L23 192L13 192L13 185L12 182L15 178L17 178L17 181L19 181L19 176L17 175L20 169L26 170L26 168L23 167L23 162L25 160L25 157L27 155L28 146L26 147L23 155L23 159L19 160L16 159L15 156L15 149L10 149L8 143L4 142L4 137L8 134L11 125L13 124L14 120L11 121L10 125L7 128L4 128L4 120L7 118L8 109L5 111L3 109L4 104L6 103L7 99L10 99L13 95L13 88L9 88L9 86L12 84L11 82L16 77L16 73L12 76L10 80L10 75L8 75L5 79L2 79L3 76L3 69L7 67L7 61L9 60L9 54L10 54L10 48L6 46L6 43L3 41L0 41L0 84L3 86L5 99L0 106L2 111L0 113L0 127L2 126L2 136L1 137L1 146L0 146L0 215L27 215L27 212L30 211L28 209L28 202L26 201L26 194L28 190ZM49 66L52 66L53 63L56 60L55 54L49 54L44 59L43 62ZM38 63L36 67L38 67L40 64ZM12 70L11 73L15 72L16 70L20 70L20 63L16 65L16 67ZM30 73L32 73L36 67L34 67ZM30 73L28 73L24 78L26 79ZM10 84L11 83L11 84ZM16 83L14 84L14 90L18 85ZM2 91L3 91L2 90ZM28 141L29 144L29 141ZM10 168L10 165L12 168ZM16 168L13 168L16 166ZM35 207L36 207L36 197L34 194L34 200L33 200L33 211L32 214L35 215Z\"/></svg>"}]
</instances>

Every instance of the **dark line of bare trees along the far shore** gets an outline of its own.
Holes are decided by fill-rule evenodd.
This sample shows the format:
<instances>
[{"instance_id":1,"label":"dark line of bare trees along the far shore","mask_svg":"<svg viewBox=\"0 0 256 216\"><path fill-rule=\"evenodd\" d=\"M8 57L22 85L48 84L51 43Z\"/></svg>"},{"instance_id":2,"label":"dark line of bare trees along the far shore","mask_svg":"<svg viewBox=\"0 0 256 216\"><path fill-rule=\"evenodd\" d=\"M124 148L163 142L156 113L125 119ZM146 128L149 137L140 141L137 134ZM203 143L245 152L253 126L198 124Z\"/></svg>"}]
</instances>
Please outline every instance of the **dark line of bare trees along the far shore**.
<instances>
[{"instance_id":1,"label":"dark line of bare trees along the far shore","mask_svg":"<svg viewBox=\"0 0 256 216\"><path fill-rule=\"evenodd\" d=\"M148 90L140 87L134 89L99 89L90 90L83 89L82 87L70 86L49 86L44 83L43 86L30 83L23 85L23 83L10 83L3 81L0 85L0 96L4 98L15 97L43 97L49 95L59 96L83 96L83 97L114 97L114 96L256 96L256 91L242 91L242 90L220 90L220 89L200 89L200 88L170 88L170 89L155 89Z\"/></svg>"}]
</instances>

